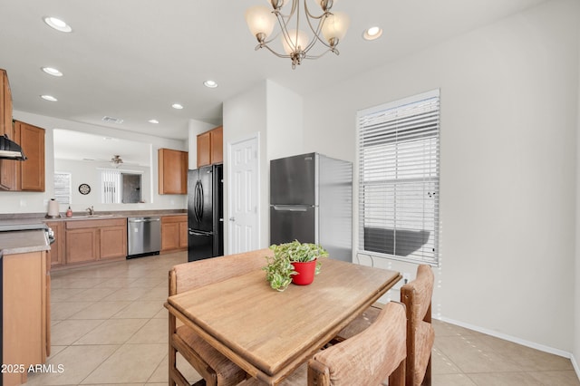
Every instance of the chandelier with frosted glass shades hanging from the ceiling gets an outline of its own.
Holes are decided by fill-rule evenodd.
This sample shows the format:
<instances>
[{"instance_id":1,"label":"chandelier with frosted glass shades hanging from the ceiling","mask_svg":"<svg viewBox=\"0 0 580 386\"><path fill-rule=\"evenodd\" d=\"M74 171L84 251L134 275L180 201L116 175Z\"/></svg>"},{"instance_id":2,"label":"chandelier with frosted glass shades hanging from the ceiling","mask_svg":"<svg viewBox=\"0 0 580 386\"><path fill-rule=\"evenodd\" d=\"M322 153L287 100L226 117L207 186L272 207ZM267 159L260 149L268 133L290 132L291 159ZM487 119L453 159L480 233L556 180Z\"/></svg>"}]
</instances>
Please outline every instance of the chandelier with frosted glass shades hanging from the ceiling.
<instances>
[{"instance_id":1,"label":"chandelier with frosted glass shades hanging from the ceiling","mask_svg":"<svg viewBox=\"0 0 580 386\"><path fill-rule=\"evenodd\" d=\"M283 11L288 10L288 7L285 7L288 1L268 0L271 6L254 5L247 9L246 23L250 32L256 36L258 42L256 50L266 48L280 58L290 58L293 69L302 63L303 59L318 59L328 52L338 55L336 46L348 29L350 23L348 15L343 12L331 12L333 0L291 0L292 5L289 8L289 13L283 14ZM320 5L322 14L316 15L310 12L306 3L313 1ZM303 7L304 10L301 9ZM305 24L308 24L310 32L314 34L312 39L309 34L300 29L300 23L303 21L301 17L304 17ZM280 26L280 31L269 38L274 30L276 20ZM270 43L278 35L285 53L277 53L270 47ZM315 55L309 53L310 49L318 42L324 44L324 51Z\"/></svg>"}]
</instances>

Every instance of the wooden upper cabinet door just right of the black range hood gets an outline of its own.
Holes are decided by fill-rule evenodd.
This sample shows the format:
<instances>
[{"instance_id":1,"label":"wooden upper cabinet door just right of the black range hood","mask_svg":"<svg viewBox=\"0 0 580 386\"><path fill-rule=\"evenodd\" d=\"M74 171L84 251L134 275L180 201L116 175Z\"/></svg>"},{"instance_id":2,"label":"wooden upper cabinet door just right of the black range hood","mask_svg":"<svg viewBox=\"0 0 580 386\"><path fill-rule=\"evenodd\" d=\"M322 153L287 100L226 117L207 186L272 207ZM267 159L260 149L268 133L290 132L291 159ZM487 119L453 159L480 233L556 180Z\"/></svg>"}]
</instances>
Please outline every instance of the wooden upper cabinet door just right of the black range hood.
<instances>
[{"instance_id":1,"label":"wooden upper cabinet door just right of the black range hood","mask_svg":"<svg viewBox=\"0 0 580 386\"><path fill-rule=\"evenodd\" d=\"M43 192L44 129L15 121L14 132L27 158L25 162L16 162L17 186L19 190Z\"/></svg>"}]
</instances>

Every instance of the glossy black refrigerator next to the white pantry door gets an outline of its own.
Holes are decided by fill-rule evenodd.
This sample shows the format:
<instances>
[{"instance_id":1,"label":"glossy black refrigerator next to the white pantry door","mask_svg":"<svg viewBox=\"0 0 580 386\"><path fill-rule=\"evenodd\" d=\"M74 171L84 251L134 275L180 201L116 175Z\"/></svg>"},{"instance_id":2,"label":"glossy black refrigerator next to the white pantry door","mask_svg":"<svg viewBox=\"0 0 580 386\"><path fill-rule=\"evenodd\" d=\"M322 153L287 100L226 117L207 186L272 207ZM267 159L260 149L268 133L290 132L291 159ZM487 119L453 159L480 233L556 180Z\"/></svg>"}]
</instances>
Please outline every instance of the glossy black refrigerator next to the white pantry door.
<instances>
[{"instance_id":1,"label":"glossy black refrigerator next to the white pantry door","mask_svg":"<svg viewBox=\"0 0 580 386\"><path fill-rule=\"evenodd\" d=\"M188 261L224 255L224 171L210 165L188 172Z\"/></svg>"}]
</instances>

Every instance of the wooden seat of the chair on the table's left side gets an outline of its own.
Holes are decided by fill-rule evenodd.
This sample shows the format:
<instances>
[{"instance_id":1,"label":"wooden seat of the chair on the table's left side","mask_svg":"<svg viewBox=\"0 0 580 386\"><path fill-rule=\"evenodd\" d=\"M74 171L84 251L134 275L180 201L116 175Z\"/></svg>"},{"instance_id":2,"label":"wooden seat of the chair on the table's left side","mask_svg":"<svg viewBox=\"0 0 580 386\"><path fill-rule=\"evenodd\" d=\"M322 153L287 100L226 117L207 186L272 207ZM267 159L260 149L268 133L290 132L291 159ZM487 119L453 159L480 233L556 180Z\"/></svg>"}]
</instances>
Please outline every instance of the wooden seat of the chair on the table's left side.
<instances>
[{"instance_id":1,"label":"wooden seat of the chair on the table's left side","mask_svg":"<svg viewBox=\"0 0 580 386\"><path fill-rule=\"evenodd\" d=\"M196 352L203 361L207 362L209 367L214 369L218 379L226 381L225 383L218 382L218 384L237 384L246 378L246 372L237 366L236 363L231 362L221 352L211 347L206 341L193 332L188 326L182 325L176 329L176 335L179 336L189 347Z\"/></svg>"}]
</instances>

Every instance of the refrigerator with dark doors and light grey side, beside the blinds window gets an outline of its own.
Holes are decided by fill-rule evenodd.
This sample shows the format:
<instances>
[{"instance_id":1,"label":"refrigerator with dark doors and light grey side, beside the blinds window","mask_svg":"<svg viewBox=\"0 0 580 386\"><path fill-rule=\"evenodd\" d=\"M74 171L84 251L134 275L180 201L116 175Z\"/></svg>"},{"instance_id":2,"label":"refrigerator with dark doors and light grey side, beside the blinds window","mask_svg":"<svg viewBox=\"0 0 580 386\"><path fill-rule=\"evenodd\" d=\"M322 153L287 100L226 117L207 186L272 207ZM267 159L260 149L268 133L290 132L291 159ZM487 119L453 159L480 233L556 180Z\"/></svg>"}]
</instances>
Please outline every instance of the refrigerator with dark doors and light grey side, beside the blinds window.
<instances>
[{"instance_id":1,"label":"refrigerator with dark doors and light grey side, beside the blinds window","mask_svg":"<svg viewBox=\"0 0 580 386\"><path fill-rule=\"evenodd\" d=\"M298 240L353 259L353 164L318 153L270 161L270 244Z\"/></svg>"}]
</instances>

